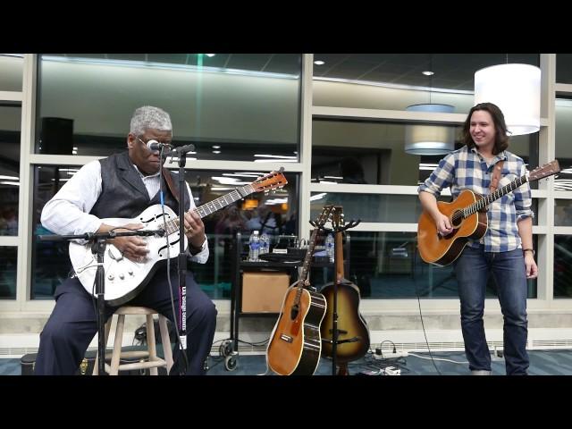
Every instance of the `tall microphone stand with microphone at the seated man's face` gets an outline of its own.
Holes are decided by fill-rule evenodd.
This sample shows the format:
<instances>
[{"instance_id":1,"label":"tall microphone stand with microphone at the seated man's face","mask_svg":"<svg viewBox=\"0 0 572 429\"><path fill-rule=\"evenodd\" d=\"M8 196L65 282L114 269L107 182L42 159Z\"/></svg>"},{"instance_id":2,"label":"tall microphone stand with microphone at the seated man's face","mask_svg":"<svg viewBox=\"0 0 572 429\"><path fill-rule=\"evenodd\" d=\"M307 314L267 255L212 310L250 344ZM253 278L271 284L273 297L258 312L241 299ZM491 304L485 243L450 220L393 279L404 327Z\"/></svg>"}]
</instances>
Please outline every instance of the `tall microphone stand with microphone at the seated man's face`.
<instances>
[{"instance_id":1,"label":"tall microphone stand with microphone at the seated man's face","mask_svg":"<svg viewBox=\"0 0 572 429\"><path fill-rule=\"evenodd\" d=\"M181 147L176 147L172 149L171 152L165 154L165 156L178 156L179 158L179 257L177 257L178 262L178 274L179 274L179 322L181 325L181 332L179 333L179 338L181 340L180 347L181 353L184 355L187 353L187 254L185 253L185 192L187 187L185 186L185 164L187 164L187 153L195 150L193 145L186 145ZM181 357L183 362L187 362L187 357ZM186 373L187 368L181 371L181 374Z\"/></svg>"}]
</instances>

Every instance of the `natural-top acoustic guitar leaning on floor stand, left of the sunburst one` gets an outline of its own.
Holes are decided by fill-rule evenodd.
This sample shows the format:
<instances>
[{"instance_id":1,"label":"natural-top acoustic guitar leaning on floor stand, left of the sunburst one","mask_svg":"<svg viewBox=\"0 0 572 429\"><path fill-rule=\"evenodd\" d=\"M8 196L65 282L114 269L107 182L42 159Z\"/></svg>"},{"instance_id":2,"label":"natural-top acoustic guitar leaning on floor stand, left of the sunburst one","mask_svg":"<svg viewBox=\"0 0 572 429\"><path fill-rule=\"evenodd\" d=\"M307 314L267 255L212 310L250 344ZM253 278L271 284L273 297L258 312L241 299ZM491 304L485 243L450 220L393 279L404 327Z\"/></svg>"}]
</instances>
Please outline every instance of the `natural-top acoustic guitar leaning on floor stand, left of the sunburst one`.
<instances>
[{"instance_id":1,"label":"natural-top acoustic guitar leaning on floor stand, left of the sunburst one","mask_svg":"<svg viewBox=\"0 0 572 429\"><path fill-rule=\"evenodd\" d=\"M309 289L307 275L318 231L331 212L332 206L324 206L315 223L299 279L286 290L278 321L270 335L266 361L276 374L312 375L320 363L320 324L324 319L326 302L324 295Z\"/></svg>"}]
</instances>

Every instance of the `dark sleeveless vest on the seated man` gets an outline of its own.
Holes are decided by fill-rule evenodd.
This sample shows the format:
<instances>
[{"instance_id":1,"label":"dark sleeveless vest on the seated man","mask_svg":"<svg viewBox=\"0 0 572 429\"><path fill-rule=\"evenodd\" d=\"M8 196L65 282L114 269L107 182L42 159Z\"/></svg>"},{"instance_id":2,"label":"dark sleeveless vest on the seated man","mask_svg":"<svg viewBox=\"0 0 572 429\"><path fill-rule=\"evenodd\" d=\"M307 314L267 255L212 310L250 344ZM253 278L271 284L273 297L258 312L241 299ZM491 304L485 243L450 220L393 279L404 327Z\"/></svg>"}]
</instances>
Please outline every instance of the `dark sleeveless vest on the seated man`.
<instances>
[{"instance_id":1,"label":"dark sleeveless vest on the seated man","mask_svg":"<svg viewBox=\"0 0 572 429\"><path fill-rule=\"evenodd\" d=\"M97 198L90 214L100 219L106 217L122 217L131 219L138 216L148 206L160 204L159 192L149 199L145 184L139 172L131 163L129 153L122 152L108 156L99 161L101 164L101 195ZM178 174L169 172L172 177L175 192L179 192ZM175 213L179 213L179 203L173 198L166 182L162 182L164 189L164 204ZM189 207L189 192L185 192L185 208Z\"/></svg>"}]
</instances>

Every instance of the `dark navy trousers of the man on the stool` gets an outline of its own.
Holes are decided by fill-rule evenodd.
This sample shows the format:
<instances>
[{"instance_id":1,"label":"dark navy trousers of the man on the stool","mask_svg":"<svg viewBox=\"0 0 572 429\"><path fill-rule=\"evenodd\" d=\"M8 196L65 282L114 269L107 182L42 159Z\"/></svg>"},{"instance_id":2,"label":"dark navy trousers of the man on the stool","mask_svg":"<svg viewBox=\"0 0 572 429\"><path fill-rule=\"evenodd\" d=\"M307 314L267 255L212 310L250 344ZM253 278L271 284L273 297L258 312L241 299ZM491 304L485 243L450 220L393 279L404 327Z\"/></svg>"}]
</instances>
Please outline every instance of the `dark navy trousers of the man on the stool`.
<instances>
[{"instance_id":1,"label":"dark navy trousers of the man on the stool","mask_svg":"<svg viewBox=\"0 0 572 429\"><path fill-rule=\"evenodd\" d=\"M171 272L172 295L175 299L175 319L179 319L179 280ZM169 282L164 269L157 270L153 279L138 296L123 304L155 309L174 323ZM105 320L118 307L105 306ZM187 273L187 366L188 375L205 374L204 361L213 344L216 328L216 308L200 290L192 273ZM181 326L179 326L181 329ZM88 345L97 333L96 300L76 278L67 279L55 290L55 308L40 333L35 374L72 375L80 366ZM178 343L173 349L171 374L180 374L184 366Z\"/></svg>"}]
</instances>

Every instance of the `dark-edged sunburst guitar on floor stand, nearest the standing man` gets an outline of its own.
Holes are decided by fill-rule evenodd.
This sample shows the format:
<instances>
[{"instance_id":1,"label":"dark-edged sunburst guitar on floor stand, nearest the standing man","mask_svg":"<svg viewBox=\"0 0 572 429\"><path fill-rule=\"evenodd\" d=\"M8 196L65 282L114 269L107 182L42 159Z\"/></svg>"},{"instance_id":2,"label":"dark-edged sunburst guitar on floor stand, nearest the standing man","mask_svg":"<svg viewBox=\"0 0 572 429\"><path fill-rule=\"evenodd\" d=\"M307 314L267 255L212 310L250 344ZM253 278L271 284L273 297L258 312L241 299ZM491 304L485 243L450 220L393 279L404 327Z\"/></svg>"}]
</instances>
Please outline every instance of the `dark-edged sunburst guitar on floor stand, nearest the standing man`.
<instances>
[{"instance_id":1,"label":"dark-edged sunburst guitar on floor stand, nearest the standing man","mask_svg":"<svg viewBox=\"0 0 572 429\"><path fill-rule=\"evenodd\" d=\"M334 207L332 214L332 226L334 228L343 224L341 206ZM361 299L359 288L344 277L342 232L335 234L335 282L337 282L338 299L338 345L336 347L336 362L340 364L339 374L347 374L348 362L364 357L369 349L369 330L366 320L359 313L359 301ZM320 290L327 302L327 310L320 331L324 339L322 354L324 357L332 357L333 354L333 295L334 284L328 283Z\"/></svg>"}]
</instances>

